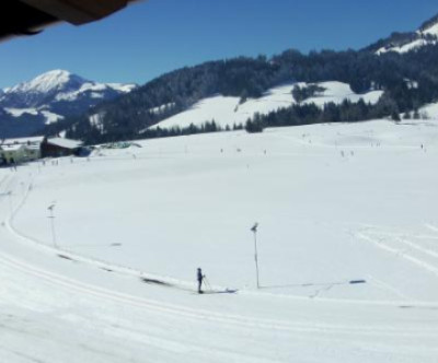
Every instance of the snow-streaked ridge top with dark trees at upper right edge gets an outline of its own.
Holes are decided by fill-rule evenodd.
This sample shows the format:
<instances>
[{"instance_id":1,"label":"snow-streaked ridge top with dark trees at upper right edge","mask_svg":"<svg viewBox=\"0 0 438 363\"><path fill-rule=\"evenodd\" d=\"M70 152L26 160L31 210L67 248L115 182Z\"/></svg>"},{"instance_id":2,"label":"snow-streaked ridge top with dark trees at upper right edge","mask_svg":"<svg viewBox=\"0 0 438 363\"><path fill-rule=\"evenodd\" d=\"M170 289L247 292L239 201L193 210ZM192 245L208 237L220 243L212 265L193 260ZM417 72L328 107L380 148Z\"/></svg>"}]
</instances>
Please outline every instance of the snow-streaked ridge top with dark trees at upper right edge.
<instances>
[{"instance_id":1,"label":"snow-streaked ridge top with dark trees at upper right edge","mask_svg":"<svg viewBox=\"0 0 438 363\"><path fill-rule=\"evenodd\" d=\"M376 44L376 54L389 51L405 54L427 45L438 44L438 15L424 23L413 33L394 33L389 39Z\"/></svg>"}]
</instances>

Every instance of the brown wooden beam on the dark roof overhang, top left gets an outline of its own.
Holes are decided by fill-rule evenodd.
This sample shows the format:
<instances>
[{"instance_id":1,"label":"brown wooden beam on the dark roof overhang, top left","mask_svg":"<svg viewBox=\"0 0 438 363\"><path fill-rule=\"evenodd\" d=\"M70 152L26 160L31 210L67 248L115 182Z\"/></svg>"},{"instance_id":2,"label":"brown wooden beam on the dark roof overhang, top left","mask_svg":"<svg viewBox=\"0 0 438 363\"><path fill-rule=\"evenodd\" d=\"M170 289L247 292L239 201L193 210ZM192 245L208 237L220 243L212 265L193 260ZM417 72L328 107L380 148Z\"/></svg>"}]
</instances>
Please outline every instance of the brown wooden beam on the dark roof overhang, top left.
<instances>
[{"instance_id":1,"label":"brown wooden beam on the dark roof overhang, top left","mask_svg":"<svg viewBox=\"0 0 438 363\"><path fill-rule=\"evenodd\" d=\"M35 9L74 25L105 17L130 0L20 0Z\"/></svg>"}]
</instances>

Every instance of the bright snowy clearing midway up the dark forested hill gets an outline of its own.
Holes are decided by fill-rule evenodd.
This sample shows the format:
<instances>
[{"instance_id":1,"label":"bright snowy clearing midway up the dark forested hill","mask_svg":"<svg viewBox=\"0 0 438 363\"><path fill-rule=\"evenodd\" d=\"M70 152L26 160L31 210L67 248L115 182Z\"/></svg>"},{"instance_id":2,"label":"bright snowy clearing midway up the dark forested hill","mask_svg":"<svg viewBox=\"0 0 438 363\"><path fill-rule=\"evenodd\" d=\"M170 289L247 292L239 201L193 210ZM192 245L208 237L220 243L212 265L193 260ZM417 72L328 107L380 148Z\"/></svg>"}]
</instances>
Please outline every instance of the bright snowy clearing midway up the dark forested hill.
<instances>
[{"instance_id":1,"label":"bright snowy clearing midway up the dark forested hill","mask_svg":"<svg viewBox=\"0 0 438 363\"><path fill-rule=\"evenodd\" d=\"M319 106L324 106L324 104L331 102L339 104L344 99L349 99L351 102L364 99L367 103L374 104L383 93L382 91L372 91L367 94L358 95L351 91L348 84L342 82L322 82L316 84L325 91L315 97L306 99L304 103L314 103ZM257 99L250 98L243 104L240 104L239 97L223 97L217 95L215 97L205 98L195 104L191 109L165 119L153 128L172 128L174 126L184 128L191 124L199 126L212 119L221 127L245 124L255 113L265 115L278 108L285 108L296 104L291 92L297 85L306 86L307 84L295 83L278 86L266 92L263 97Z\"/></svg>"}]
</instances>

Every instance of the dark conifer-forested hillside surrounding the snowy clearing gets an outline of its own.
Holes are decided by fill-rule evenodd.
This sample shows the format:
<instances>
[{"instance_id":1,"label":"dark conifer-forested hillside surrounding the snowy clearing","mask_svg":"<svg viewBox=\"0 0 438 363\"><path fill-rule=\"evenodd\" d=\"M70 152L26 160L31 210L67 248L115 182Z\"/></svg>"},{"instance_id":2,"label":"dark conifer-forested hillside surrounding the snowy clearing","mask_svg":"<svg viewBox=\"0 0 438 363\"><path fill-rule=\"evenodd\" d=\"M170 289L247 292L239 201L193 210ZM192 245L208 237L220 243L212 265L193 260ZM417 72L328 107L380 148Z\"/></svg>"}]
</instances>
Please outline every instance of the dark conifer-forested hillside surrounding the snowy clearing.
<instances>
[{"instance_id":1,"label":"dark conifer-forested hillside surrounding the snowy clearing","mask_svg":"<svg viewBox=\"0 0 438 363\"><path fill-rule=\"evenodd\" d=\"M88 114L67 118L47 128L46 133L67 131L67 137L88 143L136 139L159 121L193 106L199 99L221 94L238 96L241 103L256 98L276 85L293 82L339 81L356 93L384 91L376 105L328 105L330 112L295 105L293 125L368 119L415 112L438 99L438 46L428 45L414 51L389 51L377 55L359 51L312 51L308 55L287 50L267 58L235 58L210 61L164 74L116 101L96 106ZM281 112L286 117L288 112ZM309 114L308 114L309 113ZM328 115L328 116L324 116ZM208 121L208 120L206 120ZM284 124L288 124L285 119ZM290 122L289 122L290 124Z\"/></svg>"}]
</instances>

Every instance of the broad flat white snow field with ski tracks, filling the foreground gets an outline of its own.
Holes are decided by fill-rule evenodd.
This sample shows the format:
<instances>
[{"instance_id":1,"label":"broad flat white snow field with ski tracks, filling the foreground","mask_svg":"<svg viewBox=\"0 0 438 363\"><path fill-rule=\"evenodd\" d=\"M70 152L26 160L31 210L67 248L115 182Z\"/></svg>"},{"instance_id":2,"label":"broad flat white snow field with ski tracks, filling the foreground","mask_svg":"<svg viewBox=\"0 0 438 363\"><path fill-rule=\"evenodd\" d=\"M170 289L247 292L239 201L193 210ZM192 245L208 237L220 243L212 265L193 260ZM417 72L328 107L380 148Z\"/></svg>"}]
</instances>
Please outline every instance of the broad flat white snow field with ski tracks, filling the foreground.
<instances>
[{"instance_id":1,"label":"broad flat white snow field with ski tracks, filling the foreground","mask_svg":"<svg viewBox=\"0 0 438 363\"><path fill-rule=\"evenodd\" d=\"M1 169L0 362L437 362L436 122Z\"/></svg>"}]
</instances>

